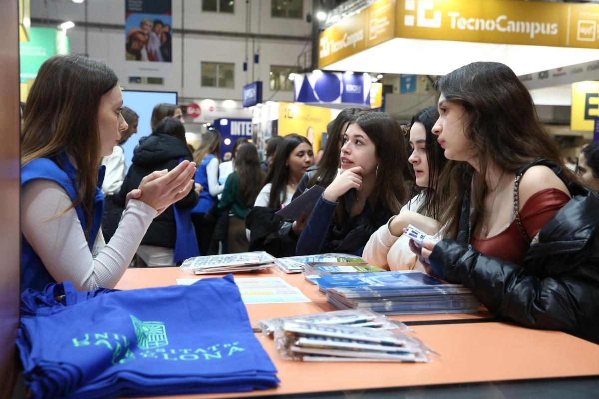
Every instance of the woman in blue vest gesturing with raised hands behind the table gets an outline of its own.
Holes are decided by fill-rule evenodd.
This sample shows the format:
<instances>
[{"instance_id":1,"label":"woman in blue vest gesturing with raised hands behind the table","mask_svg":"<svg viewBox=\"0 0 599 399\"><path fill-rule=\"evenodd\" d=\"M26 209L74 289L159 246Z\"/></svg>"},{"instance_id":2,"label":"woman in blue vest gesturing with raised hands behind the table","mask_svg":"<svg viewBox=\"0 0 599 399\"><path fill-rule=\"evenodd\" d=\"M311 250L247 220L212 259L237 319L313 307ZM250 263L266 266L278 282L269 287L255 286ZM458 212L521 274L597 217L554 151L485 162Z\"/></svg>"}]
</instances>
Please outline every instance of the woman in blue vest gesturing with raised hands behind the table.
<instances>
[{"instance_id":1,"label":"woman in blue vest gesturing with raised hands behind the table","mask_svg":"<svg viewBox=\"0 0 599 399\"><path fill-rule=\"evenodd\" d=\"M55 56L40 67L27 99L21 143L21 288L72 281L78 290L113 288L153 218L193 186L195 164L143 178L127 195L116 233L98 234L102 156L127 129L114 71L100 60Z\"/></svg>"}]
</instances>

